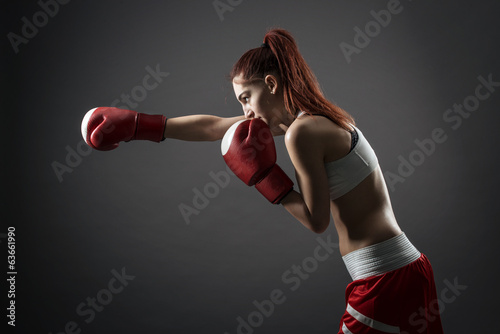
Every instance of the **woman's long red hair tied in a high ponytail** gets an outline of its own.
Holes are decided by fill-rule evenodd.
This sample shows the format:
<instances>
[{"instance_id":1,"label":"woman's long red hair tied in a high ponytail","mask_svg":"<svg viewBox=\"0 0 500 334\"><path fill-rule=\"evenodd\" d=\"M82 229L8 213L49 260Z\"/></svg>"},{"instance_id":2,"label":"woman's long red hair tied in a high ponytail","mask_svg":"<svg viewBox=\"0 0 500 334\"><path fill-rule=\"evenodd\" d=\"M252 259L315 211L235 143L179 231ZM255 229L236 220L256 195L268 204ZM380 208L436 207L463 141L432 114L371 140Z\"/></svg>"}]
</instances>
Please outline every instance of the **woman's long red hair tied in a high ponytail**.
<instances>
[{"instance_id":1,"label":"woman's long red hair tied in a high ponytail","mask_svg":"<svg viewBox=\"0 0 500 334\"><path fill-rule=\"evenodd\" d=\"M269 30L261 47L247 51L234 64L230 79L241 76L245 81L253 81L268 74L281 80L285 108L292 116L304 111L326 116L346 130L351 130L349 123L355 125L351 115L325 98L316 76L286 30Z\"/></svg>"}]
</instances>

